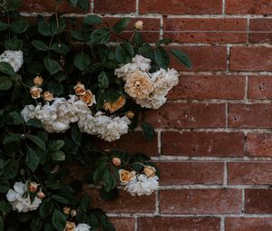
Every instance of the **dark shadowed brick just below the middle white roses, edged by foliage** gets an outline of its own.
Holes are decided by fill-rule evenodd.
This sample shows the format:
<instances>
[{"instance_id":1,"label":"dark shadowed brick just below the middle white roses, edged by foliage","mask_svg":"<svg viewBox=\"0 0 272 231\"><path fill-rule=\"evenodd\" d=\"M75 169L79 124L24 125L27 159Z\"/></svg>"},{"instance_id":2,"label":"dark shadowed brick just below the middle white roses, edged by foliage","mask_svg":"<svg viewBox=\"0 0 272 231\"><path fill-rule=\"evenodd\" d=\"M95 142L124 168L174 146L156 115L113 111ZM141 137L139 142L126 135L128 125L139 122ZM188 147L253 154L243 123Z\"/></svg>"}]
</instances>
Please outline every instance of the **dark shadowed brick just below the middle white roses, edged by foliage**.
<instances>
[{"instance_id":1,"label":"dark shadowed brick just below the middle white roses, edged by foliage","mask_svg":"<svg viewBox=\"0 0 272 231\"><path fill-rule=\"evenodd\" d=\"M94 143L99 149L119 149L130 153L141 152L146 155L158 155L157 133L153 140L145 140L141 131L133 131L121 136L120 140L106 142L104 140L93 138ZM144 149L142 149L144 147Z\"/></svg>"}]
</instances>

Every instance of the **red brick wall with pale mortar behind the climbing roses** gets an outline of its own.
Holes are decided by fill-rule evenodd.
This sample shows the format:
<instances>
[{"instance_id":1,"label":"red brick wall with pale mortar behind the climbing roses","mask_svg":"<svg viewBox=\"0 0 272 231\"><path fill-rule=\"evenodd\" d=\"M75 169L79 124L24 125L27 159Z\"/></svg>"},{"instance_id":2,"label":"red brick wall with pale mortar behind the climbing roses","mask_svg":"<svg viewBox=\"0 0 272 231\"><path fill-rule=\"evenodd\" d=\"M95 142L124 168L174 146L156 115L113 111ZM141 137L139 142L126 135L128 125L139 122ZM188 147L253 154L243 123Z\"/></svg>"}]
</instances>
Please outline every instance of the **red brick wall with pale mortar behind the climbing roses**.
<instances>
[{"instance_id":1,"label":"red brick wall with pale mortar behind the climbing roses","mask_svg":"<svg viewBox=\"0 0 272 231\"><path fill-rule=\"evenodd\" d=\"M25 0L22 11L52 12L54 0ZM159 111L156 127L102 147L143 151L160 166L160 191L93 207L109 212L117 230L272 230L272 1L92 0L107 20L141 18L149 42L171 38L189 54L191 70ZM60 11L74 9L62 4ZM113 20L114 21L114 20Z\"/></svg>"}]
</instances>

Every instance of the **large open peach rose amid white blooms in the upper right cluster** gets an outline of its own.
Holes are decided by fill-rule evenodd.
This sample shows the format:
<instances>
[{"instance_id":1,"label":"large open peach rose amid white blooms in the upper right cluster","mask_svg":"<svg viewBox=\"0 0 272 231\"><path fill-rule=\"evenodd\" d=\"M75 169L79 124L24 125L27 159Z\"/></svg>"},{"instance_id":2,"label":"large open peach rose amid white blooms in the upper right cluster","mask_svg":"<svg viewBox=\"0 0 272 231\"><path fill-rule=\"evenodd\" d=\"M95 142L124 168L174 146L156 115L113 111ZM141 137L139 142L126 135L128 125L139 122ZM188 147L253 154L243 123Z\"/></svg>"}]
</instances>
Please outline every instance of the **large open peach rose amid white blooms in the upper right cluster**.
<instances>
[{"instance_id":1,"label":"large open peach rose amid white blooms in the upper right cluster","mask_svg":"<svg viewBox=\"0 0 272 231\"><path fill-rule=\"evenodd\" d=\"M144 100L153 91L151 78L144 72L128 74L124 90L135 100Z\"/></svg>"}]
</instances>

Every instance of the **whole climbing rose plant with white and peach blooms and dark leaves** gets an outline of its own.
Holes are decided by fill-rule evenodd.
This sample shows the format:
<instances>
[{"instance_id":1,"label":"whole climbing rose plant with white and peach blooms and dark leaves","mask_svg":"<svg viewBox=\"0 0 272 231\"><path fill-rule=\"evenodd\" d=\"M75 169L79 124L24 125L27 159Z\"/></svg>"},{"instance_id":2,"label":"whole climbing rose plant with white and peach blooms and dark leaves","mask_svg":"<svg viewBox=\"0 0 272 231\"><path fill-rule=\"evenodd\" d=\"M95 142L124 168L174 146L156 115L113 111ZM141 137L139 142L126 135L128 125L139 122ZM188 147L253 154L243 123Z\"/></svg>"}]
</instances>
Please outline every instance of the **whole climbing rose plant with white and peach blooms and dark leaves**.
<instances>
[{"instance_id":1,"label":"whole climbing rose plant with white and peach blooms and dark leaves","mask_svg":"<svg viewBox=\"0 0 272 231\"><path fill-rule=\"evenodd\" d=\"M159 169L141 153L98 149L93 137L111 142L141 127L151 140L139 114L159 109L179 82L169 53L189 67L188 56L166 52L170 40L145 43L141 21L128 37L129 18L105 27L97 15L56 12L29 23L19 0L0 7L0 230L115 230L83 188L98 185L104 203L119 185L151 195Z\"/></svg>"}]
</instances>

